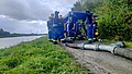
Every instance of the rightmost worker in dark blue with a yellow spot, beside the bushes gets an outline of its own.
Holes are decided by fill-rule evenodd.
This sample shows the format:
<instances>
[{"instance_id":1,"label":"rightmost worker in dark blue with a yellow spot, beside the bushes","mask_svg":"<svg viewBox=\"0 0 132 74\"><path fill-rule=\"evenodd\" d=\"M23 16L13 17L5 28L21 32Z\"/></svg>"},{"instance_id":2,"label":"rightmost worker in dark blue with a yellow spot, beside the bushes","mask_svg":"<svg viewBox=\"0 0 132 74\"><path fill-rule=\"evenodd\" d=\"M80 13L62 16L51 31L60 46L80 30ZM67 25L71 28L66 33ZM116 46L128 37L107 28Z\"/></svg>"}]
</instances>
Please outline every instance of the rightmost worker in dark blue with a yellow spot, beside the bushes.
<instances>
[{"instance_id":1,"label":"rightmost worker in dark blue with a yellow spot, beside the bushes","mask_svg":"<svg viewBox=\"0 0 132 74\"><path fill-rule=\"evenodd\" d=\"M97 21L96 15L92 16L92 42L97 41L98 29L97 29Z\"/></svg>"}]
</instances>

